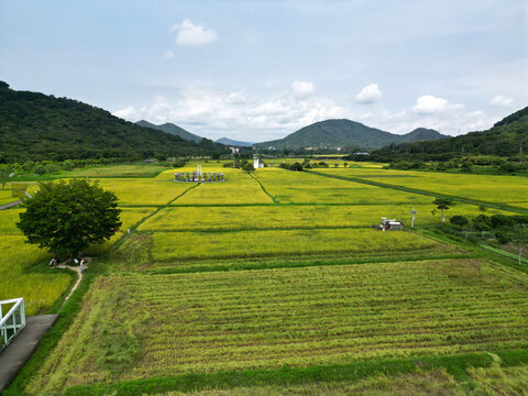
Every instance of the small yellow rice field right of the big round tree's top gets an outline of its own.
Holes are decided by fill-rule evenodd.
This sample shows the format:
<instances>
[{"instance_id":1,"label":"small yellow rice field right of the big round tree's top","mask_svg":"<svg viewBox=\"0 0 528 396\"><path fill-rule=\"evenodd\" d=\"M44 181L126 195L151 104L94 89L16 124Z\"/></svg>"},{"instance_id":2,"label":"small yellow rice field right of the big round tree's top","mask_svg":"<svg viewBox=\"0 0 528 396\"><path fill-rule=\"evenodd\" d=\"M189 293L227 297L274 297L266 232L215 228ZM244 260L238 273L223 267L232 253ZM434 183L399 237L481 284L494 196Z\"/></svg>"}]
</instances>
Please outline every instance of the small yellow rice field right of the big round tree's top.
<instances>
[{"instance_id":1,"label":"small yellow rice field right of the big round tree's top","mask_svg":"<svg viewBox=\"0 0 528 396\"><path fill-rule=\"evenodd\" d=\"M98 182L100 187L114 193L119 204L124 206L167 205L191 187L163 179L105 178Z\"/></svg>"}]
</instances>

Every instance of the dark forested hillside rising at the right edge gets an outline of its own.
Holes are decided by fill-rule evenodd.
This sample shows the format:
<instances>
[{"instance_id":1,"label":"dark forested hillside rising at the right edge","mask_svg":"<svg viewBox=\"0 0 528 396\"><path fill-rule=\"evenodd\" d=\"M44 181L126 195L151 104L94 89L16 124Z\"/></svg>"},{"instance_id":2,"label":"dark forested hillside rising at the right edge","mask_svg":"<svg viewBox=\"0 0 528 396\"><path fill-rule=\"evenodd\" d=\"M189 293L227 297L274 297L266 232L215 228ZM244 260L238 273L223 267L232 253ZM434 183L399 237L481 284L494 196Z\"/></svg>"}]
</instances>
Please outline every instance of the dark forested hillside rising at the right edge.
<instances>
[{"instance_id":1,"label":"dark forested hillside rising at the right edge","mask_svg":"<svg viewBox=\"0 0 528 396\"><path fill-rule=\"evenodd\" d=\"M528 107L482 132L432 142L393 144L372 153L373 158L450 160L464 155L515 156L528 151Z\"/></svg>"}]
</instances>

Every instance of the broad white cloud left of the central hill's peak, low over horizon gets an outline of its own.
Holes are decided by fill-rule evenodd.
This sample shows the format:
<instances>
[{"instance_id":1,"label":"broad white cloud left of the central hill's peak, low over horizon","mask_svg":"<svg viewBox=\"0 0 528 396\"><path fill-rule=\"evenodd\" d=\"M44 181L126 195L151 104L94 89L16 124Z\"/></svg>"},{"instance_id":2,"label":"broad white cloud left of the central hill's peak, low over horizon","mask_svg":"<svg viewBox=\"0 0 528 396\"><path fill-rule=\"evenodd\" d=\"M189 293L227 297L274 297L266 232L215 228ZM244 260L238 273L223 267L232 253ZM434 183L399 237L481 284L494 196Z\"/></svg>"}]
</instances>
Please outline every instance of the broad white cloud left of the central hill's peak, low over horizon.
<instances>
[{"instance_id":1,"label":"broad white cloud left of the central hill's peak, low over horizon","mask_svg":"<svg viewBox=\"0 0 528 396\"><path fill-rule=\"evenodd\" d=\"M229 135L253 141L283 138L326 119L352 118L331 99L299 97L293 90L260 98L200 86L188 86L172 99L160 96L144 107L118 110L114 116L130 121L145 119L157 124L173 122L211 139Z\"/></svg>"}]
</instances>

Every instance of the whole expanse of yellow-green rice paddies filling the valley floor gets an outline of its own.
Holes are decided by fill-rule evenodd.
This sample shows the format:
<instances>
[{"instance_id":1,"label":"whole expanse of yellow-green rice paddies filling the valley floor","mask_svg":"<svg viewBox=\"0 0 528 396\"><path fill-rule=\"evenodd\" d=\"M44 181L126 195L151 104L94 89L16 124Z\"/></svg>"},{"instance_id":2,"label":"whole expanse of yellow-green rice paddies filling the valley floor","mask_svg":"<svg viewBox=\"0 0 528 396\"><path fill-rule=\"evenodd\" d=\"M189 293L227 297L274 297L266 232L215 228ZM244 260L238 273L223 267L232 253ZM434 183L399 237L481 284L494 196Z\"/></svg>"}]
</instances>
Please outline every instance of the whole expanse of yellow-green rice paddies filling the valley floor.
<instances>
[{"instance_id":1,"label":"whole expanse of yellow-green rice paddies filling the valley floor","mask_svg":"<svg viewBox=\"0 0 528 396\"><path fill-rule=\"evenodd\" d=\"M524 388L527 272L428 232L441 221L433 197L280 168L248 174L221 162L201 165L224 173L223 183L173 182L175 172L198 164L152 177L141 169L130 169L138 177L99 173L99 184L120 199L123 226L87 251L92 280L18 391L514 395ZM316 170L414 180L414 188L469 199L447 210L448 218L512 215L472 198L517 201L522 210L524 178L482 176L486 185L475 176L339 164ZM447 176L453 179L442 190ZM0 296L24 296L32 314L45 312L73 276L46 268L47 253L23 242L15 227L22 210L0 211ZM410 210L418 212L413 231ZM381 217L403 220L405 230L372 229Z\"/></svg>"}]
</instances>

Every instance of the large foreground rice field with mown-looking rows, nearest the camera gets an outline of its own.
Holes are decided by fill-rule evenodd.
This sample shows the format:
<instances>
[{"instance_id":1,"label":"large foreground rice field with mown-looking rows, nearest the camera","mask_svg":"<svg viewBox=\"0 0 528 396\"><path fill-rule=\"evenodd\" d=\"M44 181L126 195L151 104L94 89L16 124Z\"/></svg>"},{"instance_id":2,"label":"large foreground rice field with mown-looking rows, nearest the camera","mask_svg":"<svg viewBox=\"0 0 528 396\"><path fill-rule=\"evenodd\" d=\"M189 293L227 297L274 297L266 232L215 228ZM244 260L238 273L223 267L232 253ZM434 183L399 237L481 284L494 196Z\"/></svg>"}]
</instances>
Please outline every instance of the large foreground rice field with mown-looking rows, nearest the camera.
<instances>
[{"instance_id":1,"label":"large foreground rice field with mown-looking rows, nearest the camera","mask_svg":"<svg viewBox=\"0 0 528 396\"><path fill-rule=\"evenodd\" d=\"M26 391L522 349L527 285L476 260L112 275L96 280Z\"/></svg>"}]
</instances>

